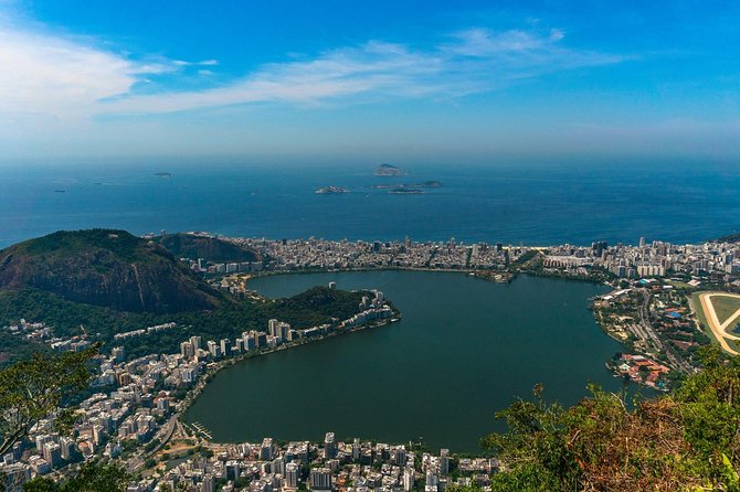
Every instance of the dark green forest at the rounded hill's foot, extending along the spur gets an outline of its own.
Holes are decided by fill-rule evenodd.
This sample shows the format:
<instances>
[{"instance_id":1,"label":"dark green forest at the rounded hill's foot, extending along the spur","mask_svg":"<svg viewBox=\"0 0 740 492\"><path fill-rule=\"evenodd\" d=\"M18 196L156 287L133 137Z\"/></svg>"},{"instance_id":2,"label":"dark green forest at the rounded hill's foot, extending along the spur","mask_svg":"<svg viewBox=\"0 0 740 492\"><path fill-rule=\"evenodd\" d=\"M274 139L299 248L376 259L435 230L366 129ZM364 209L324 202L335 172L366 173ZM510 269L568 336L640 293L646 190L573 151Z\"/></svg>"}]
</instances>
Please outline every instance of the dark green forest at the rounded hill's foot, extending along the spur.
<instances>
[{"instance_id":1,"label":"dark green forest at the rounded hill's foot, extending along the spur","mask_svg":"<svg viewBox=\"0 0 740 492\"><path fill-rule=\"evenodd\" d=\"M140 356L178 352L179 343L190 335L200 335L204 340L234 340L245 330L265 331L271 318L286 321L297 329L327 323L332 318L346 319L358 312L363 295L367 292L315 287L287 299L234 300L213 310L157 314L72 302L38 289L4 290L0 292L0 328L24 318L52 327L54 336L86 333L89 340L104 342L104 351L123 345L128 356ZM170 321L178 323L178 328L123 341L113 339L116 333ZM0 353L4 354L6 361L22 359L43 349L44 345L28 342L22 334L0 331Z\"/></svg>"}]
</instances>

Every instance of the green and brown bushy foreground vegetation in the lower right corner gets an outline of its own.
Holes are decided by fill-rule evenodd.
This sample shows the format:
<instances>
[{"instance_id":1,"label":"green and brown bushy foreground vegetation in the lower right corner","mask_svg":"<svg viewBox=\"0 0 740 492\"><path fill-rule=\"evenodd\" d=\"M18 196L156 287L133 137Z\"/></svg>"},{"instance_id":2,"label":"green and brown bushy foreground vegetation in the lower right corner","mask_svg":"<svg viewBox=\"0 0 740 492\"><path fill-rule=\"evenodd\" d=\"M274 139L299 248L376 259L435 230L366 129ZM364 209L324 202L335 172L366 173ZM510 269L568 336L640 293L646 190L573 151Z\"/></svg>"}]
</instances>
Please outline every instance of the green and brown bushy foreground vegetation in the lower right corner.
<instances>
[{"instance_id":1,"label":"green and brown bushy foreground vegetation in the lower right corner","mask_svg":"<svg viewBox=\"0 0 740 492\"><path fill-rule=\"evenodd\" d=\"M712 347L704 362L632 409L595 387L572 408L549 405L537 387L497 415L506 434L482 439L506 464L493 491L740 491L740 360Z\"/></svg>"}]
</instances>

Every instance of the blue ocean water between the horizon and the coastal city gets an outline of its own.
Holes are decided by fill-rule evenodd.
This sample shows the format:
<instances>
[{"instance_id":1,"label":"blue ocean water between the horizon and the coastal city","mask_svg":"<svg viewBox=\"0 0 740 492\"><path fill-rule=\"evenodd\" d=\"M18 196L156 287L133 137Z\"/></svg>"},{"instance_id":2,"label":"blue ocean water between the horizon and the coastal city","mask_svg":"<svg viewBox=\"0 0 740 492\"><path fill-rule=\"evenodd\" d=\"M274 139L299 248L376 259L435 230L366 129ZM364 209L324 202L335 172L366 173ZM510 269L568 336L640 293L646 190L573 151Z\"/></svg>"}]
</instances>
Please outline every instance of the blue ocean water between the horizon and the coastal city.
<instances>
[{"instance_id":1,"label":"blue ocean water between the horizon and the coastal city","mask_svg":"<svg viewBox=\"0 0 740 492\"><path fill-rule=\"evenodd\" d=\"M59 229L349 239L635 244L740 229L740 165L614 162L478 167L101 164L1 169L0 247ZM171 172L158 178L156 172ZM426 194L373 184L438 180ZM350 193L319 195L319 186ZM61 191L64 192L61 192Z\"/></svg>"}]
</instances>

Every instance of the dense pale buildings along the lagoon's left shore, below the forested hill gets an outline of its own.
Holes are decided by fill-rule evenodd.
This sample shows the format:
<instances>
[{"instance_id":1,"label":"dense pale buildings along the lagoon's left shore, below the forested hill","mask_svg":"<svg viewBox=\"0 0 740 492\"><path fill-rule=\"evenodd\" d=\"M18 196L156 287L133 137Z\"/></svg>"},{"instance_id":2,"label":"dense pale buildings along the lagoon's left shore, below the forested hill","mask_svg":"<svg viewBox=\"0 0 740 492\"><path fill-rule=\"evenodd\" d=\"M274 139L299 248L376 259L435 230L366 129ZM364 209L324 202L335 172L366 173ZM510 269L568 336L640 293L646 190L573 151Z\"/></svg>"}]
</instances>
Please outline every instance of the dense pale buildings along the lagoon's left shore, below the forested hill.
<instances>
[{"instance_id":1,"label":"dense pale buildings along the lagoon's left shore, below the forested hill","mask_svg":"<svg viewBox=\"0 0 740 492\"><path fill-rule=\"evenodd\" d=\"M183 402L188 398L187 391L193 387L209 367L226 357L265 353L281 345L288 346L290 342L306 341L332 331L391 318L393 310L385 303L383 293L373 292L372 297L363 297L358 314L335 324L293 329L286 322L272 319L267 323L266 332L243 332L233 344L229 339L219 342L211 340L202 344L201 336L191 336L180 344L180 352L177 354L150 354L130 361L126 360L124 347L114 347L110 355L97 357L99 371L96 372L92 387L98 393L81 403L70 437L54 432L53 423L43 420L31 429L29 439L18 442L11 452L2 457L0 472L4 472L9 480L6 490L20 491L22 483L32 475L46 474L71 462L96 456L117 458L123 454L129 461L144 456L152 442L163 443L172 435L178 425L177 413L182 409ZM33 330L43 329L41 323L22 324L34 325ZM172 325L173 323L168 323L152 328L166 330L173 328ZM146 330L142 331L146 333ZM158 439L154 440L155 437ZM290 448L293 451L288 456L307 457L304 448L307 449L307 445ZM277 450L276 447L274 449ZM273 451L269 452L269 457L272 456ZM288 462L289 460L285 464ZM230 471L224 471L226 469ZM218 463L211 463L208 470L216 471L213 474L215 483L215 477L220 478L222 471L229 477L240 477L242 472L234 470L247 468L232 463L222 470ZM287 471L281 469L281 477L288 477ZM203 483L207 482L210 483L208 480ZM149 485L144 489L134 485L129 490L152 489ZM207 486L202 490L214 489ZM272 489L264 489L263 492L268 490Z\"/></svg>"}]
</instances>

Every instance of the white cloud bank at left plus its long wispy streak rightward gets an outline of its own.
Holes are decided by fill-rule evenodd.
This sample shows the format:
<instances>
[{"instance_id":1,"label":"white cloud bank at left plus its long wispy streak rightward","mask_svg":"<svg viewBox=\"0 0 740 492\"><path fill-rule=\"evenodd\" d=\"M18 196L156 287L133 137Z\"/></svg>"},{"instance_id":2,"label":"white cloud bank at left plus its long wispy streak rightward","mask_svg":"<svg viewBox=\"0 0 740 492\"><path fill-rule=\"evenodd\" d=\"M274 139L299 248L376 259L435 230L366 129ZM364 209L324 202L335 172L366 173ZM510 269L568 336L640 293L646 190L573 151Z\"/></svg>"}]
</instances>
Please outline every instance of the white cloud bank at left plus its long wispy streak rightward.
<instances>
[{"instance_id":1,"label":"white cloud bank at left plus its long wispy streak rightward","mask_svg":"<svg viewBox=\"0 0 740 492\"><path fill-rule=\"evenodd\" d=\"M179 90L179 71L213 75L216 60L136 62L91 40L10 28L0 22L0 113L54 118L149 115L279 103L367 103L383 98L461 97L518 79L624 56L564 45L564 33L475 28L426 50L368 41L313 60L264 65L218 87ZM167 85L138 94L148 76L171 72ZM170 74L171 75L171 74Z\"/></svg>"}]
</instances>

